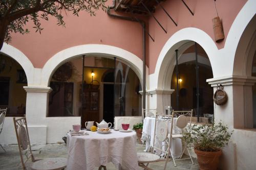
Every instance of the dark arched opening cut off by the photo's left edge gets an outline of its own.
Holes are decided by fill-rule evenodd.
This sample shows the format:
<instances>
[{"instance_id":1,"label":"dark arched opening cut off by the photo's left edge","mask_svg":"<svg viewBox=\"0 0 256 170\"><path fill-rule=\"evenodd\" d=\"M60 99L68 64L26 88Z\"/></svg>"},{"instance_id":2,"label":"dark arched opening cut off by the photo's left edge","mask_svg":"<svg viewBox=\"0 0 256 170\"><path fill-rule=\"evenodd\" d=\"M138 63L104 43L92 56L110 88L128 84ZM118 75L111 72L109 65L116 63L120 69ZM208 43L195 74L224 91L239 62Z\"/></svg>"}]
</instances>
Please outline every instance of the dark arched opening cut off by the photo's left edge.
<instances>
[{"instance_id":1,"label":"dark arched opening cut off by the photo's left edge","mask_svg":"<svg viewBox=\"0 0 256 170\"><path fill-rule=\"evenodd\" d=\"M7 116L26 114L27 76L23 67L11 57L0 53L0 108L8 108Z\"/></svg>"}]
</instances>

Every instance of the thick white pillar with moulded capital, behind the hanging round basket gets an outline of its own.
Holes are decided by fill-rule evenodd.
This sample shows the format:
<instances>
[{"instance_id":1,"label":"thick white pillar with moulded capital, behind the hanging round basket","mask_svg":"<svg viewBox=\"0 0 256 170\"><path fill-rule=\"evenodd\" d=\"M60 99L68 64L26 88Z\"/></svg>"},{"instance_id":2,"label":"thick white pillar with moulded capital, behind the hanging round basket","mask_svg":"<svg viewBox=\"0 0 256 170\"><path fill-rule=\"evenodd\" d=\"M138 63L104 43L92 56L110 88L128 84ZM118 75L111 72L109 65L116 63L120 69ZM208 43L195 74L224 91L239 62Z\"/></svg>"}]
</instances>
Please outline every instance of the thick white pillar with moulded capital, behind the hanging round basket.
<instances>
[{"instance_id":1,"label":"thick white pillar with moulded capital, behind the hanging round basket","mask_svg":"<svg viewBox=\"0 0 256 170\"><path fill-rule=\"evenodd\" d=\"M252 86L256 77L226 76L208 79L207 82L214 87L214 91L217 84L222 84L228 95L227 104L215 108L216 118L225 120L234 128L253 128Z\"/></svg>"}]
</instances>

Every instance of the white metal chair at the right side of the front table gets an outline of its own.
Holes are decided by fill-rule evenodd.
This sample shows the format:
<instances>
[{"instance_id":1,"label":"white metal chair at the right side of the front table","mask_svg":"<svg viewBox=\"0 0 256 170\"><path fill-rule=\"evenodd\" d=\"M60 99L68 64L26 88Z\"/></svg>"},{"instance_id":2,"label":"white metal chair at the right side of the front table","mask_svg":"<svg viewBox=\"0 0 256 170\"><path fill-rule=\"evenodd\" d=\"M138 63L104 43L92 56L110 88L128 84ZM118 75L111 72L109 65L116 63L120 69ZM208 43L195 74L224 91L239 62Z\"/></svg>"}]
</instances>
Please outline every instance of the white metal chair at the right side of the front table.
<instances>
[{"instance_id":1,"label":"white metal chair at the right side of the front table","mask_svg":"<svg viewBox=\"0 0 256 170\"><path fill-rule=\"evenodd\" d=\"M165 161L164 170L166 169L167 162L169 160L170 154L170 121L172 120L172 115L156 114L155 119L155 130L154 139L152 146L152 153L137 153L139 166L144 169L151 170L148 164L152 162ZM162 143L165 142L165 145Z\"/></svg>"}]
</instances>

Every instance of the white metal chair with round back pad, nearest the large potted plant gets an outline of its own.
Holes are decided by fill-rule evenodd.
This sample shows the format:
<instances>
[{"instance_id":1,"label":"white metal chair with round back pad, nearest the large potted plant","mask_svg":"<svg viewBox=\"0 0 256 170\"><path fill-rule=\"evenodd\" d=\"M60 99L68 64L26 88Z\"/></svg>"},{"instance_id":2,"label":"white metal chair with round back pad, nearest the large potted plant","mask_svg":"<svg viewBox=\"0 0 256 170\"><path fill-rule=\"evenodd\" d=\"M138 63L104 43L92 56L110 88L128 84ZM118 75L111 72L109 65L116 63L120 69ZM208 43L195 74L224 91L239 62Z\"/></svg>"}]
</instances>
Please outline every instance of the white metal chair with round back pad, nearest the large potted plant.
<instances>
[{"instance_id":1,"label":"white metal chair with round back pad, nearest the large potted plant","mask_svg":"<svg viewBox=\"0 0 256 170\"><path fill-rule=\"evenodd\" d=\"M171 129L172 129L171 132L172 133L170 134L170 136L172 136L171 139L177 139L177 138L182 139L183 138L183 134L187 133L187 131L185 130L186 126L188 125L189 127L191 127L192 114L193 114L193 109L191 109L189 111L174 111L173 110L173 113L172 113L172 127L171 127ZM176 127L174 127L174 121L173 121L174 117L178 117L177 120L176 120L176 125L175 125ZM173 130L175 132L173 132ZM192 159L191 154L190 154L190 152L187 148L186 143L184 143L184 149L182 151L182 154L181 154L180 158L176 159L176 160L182 160L182 156L184 154L185 149L188 152L189 158L183 158L183 159L191 159L192 164L194 164L193 159ZM174 166L176 166L175 158L174 158L172 153L171 153L171 155L173 157Z\"/></svg>"}]
</instances>

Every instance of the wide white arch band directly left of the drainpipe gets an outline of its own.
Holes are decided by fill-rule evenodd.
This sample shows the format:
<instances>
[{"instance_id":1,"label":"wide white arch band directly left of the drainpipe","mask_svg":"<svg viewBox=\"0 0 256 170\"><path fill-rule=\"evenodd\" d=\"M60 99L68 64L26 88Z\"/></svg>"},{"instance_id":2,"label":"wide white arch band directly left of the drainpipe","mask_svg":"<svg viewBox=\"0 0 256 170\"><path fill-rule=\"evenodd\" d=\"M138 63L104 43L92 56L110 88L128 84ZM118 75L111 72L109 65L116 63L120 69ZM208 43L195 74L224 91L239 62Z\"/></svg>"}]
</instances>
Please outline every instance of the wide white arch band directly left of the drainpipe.
<instances>
[{"instance_id":1,"label":"wide white arch band directly left of the drainpipe","mask_svg":"<svg viewBox=\"0 0 256 170\"><path fill-rule=\"evenodd\" d=\"M113 56L121 59L122 61L125 61L126 63L129 63L133 70L135 71L135 73L137 74L140 81L142 82L143 62L139 57L126 50L123 50L122 48L111 45L86 44L67 48L51 57L42 68L41 85L48 86L51 75L53 74L54 70L58 67L58 65L61 65L70 58L80 57L81 55L89 54L101 55L106 57Z\"/></svg>"}]
</instances>

